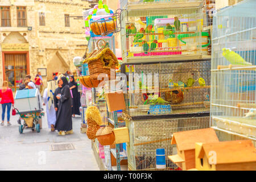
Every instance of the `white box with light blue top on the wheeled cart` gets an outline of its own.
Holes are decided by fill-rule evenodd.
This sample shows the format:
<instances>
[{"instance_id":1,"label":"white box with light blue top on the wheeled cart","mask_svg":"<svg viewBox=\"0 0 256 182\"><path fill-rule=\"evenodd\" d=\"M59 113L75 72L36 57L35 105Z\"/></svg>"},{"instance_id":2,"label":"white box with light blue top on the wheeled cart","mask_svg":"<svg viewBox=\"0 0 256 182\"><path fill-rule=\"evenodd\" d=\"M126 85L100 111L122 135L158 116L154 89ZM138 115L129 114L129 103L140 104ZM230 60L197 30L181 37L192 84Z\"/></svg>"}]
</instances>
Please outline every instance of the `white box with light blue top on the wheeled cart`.
<instances>
[{"instance_id":1,"label":"white box with light blue top on the wheeled cart","mask_svg":"<svg viewBox=\"0 0 256 182\"><path fill-rule=\"evenodd\" d=\"M38 89L17 90L15 94L15 107L20 113L41 111L42 98Z\"/></svg>"}]
</instances>

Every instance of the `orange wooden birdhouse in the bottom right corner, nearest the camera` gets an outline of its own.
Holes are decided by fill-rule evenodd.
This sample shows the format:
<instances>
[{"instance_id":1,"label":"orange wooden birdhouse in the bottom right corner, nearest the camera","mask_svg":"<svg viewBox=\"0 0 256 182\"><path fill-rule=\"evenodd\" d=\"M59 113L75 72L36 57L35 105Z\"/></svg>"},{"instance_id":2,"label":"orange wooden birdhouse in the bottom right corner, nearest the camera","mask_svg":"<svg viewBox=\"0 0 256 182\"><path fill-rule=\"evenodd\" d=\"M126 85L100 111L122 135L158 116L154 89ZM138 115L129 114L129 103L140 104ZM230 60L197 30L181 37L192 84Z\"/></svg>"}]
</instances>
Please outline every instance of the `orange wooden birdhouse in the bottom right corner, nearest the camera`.
<instances>
[{"instance_id":1,"label":"orange wooden birdhouse in the bottom right corner, nearest the camera","mask_svg":"<svg viewBox=\"0 0 256 182\"><path fill-rule=\"evenodd\" d=\"M196 143L196 169L255 171L256 150L251 140Z\"/></svg>"}]
</instances>

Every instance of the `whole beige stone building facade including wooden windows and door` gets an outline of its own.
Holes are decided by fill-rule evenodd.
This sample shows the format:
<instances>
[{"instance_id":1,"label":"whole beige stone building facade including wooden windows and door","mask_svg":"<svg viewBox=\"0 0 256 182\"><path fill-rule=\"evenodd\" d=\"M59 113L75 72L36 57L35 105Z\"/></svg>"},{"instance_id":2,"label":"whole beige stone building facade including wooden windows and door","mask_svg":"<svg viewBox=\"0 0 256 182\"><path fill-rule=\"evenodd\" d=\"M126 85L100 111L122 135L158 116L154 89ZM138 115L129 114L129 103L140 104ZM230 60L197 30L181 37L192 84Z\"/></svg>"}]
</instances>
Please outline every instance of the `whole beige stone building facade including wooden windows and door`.
<instances>
[{"instance_id":1,"label":"whole beige stone building facade including wooden windows and door","mask_svg":"<svg viewBox=\"0 0 256 182\"><path fill-rule=\"evenodd\" d=\"M88 43L77 16L88 1L1 0L0 7L0 85L7 80L15 90L25 75L41 71L46 86L53 72L75 71L73 57Z\"/></svg>"}]
</instances>

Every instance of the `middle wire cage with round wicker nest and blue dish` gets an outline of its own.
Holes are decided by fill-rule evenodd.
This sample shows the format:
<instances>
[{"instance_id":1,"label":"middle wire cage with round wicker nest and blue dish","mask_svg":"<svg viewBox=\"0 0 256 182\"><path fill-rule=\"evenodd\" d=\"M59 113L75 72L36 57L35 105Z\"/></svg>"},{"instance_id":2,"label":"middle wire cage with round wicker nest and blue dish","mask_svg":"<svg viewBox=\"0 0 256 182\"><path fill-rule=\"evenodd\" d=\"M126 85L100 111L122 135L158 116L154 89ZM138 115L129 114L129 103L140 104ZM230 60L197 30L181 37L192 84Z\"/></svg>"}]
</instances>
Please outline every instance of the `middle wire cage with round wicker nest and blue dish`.
<instances>
[{"instance_id":1,"label":"middle wire cage with round wicker nest and blue dish","mask_svg":"<svg viewBox=\"0 0 256 182\"><path fill-rule=\"evenodd\" d=\"M202 113L210 109L210 60L125 64L131 116Z\"/></svg>"}]
</instances>

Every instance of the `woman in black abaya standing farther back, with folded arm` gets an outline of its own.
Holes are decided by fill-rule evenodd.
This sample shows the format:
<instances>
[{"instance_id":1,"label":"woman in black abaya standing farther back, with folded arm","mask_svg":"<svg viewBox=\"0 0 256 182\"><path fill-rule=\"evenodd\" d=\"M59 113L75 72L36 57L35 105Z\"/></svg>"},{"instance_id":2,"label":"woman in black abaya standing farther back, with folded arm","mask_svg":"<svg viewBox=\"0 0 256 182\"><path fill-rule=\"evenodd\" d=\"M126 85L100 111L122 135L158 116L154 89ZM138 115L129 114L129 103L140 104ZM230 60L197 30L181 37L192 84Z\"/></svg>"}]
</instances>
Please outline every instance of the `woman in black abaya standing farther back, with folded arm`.
<instances>
[{"instance_id":1,"label":"woman in black abaya standing farther back, with folded arm","mask_svg":"<svg viewBox=\"0 0 256 182\"><path fill-rule=\"evenodd\" d=\"M72 114L73 117L75 118L75 114L80 115L79 107L81 106L80 104L80 94L77 89L77 82L75 82L74 76L69 77L69 89L72 90L72 95L73 95L73 107L72 107Z\"/></svg>"}]
</instances>

